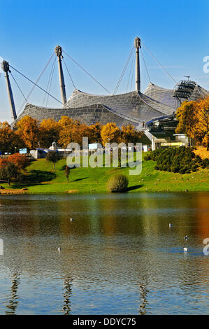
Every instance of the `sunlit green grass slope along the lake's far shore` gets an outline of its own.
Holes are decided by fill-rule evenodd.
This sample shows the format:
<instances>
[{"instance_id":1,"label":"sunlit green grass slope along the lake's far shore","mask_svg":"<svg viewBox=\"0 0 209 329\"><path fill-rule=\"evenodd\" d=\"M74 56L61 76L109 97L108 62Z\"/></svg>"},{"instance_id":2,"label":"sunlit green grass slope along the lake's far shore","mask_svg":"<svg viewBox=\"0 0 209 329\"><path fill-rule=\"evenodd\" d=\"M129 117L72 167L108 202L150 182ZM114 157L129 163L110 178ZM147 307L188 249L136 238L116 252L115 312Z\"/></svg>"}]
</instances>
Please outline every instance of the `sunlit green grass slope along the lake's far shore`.
<instances>
[{"instance_id":1,"label":"sunlit green grass slope along the lake's far shore","mask_svg":"<svg viewBox=\"0 0 209 329\"><path fill-rule=\"evenodd\" d=\"M31 162L24 175L24 181L11 183L11 189L27 188L26 193L104 193L106 181L114 172L129 177L129 192L140 191L209 191L209 170L199 169L191 174L175 174L154 170L155 162L143 161L142 172L130 176L130 168L74 168L69 183L64 175L66 159L59 160L56 171L45 159ZM8 184L1 186L9 188ZM3 190L2 190L3 191Z\"/></svg>"}]
</instances>

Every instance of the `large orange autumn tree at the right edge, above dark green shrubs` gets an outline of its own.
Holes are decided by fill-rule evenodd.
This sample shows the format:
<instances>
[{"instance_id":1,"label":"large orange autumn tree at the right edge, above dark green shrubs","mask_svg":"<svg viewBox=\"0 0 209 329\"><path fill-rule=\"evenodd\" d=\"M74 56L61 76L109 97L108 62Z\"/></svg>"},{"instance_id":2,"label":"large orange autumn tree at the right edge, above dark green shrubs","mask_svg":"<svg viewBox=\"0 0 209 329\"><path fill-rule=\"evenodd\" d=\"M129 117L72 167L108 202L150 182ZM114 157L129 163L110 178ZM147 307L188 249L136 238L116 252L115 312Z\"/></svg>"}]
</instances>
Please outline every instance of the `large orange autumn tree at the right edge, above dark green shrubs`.
<instances>
[{"instance_id":1,"label":"large orange autumn tree at the right edge, above dark green shrubs","mask_svg":"<svg viewBox=\"0 0 209 329\"><path fill-rule=\"evenodd\" d=\"M184 133L207 146L209 151L209 97L199 102L183 102L176 112L177 133Z\"/></svg>"}]
</instances>

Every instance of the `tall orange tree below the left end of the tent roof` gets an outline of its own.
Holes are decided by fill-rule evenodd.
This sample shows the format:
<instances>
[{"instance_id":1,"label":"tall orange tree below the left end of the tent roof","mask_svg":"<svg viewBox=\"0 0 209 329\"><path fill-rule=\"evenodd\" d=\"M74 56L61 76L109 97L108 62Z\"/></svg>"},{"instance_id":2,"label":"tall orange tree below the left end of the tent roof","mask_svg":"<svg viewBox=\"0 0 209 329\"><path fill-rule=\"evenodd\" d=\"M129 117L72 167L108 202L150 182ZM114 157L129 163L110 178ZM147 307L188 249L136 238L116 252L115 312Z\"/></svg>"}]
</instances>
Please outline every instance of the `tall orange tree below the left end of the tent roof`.
<instances>
[{"instance_id":1,"label":"tall orange tree below the left end of the tent roof","mask_svg":"<svg viewBox=\"0 0 209 329\"><path fill-rule=\"evenodd\" d=\"M38 147L40 140L38 120L24 116L17 122L17 134L22 137L27 149Z\"/></svg>"}]
</instances>

